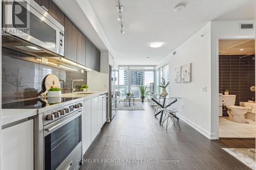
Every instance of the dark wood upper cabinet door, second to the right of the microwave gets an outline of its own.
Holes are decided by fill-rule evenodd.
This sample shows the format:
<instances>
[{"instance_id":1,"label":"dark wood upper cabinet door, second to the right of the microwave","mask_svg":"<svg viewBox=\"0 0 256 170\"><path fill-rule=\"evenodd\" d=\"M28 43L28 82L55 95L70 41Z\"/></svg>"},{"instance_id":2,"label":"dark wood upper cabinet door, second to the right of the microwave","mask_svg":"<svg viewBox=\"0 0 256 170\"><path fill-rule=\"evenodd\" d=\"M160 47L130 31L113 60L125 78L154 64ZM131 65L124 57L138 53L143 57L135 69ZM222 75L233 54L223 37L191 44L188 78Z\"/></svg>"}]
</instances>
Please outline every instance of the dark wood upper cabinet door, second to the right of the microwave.
<instances>
[{"instance_id":1,"label":"dark wood upper cabinet door, second to the right of the microwave","mask_svg":"<svg viewBox=\"0 0 256 170\"><path fill-rule=\"evenodd\" d=\"M86 36L79 30L77 32L77 62L86 65Z\"/></svg>"}]
</instances>

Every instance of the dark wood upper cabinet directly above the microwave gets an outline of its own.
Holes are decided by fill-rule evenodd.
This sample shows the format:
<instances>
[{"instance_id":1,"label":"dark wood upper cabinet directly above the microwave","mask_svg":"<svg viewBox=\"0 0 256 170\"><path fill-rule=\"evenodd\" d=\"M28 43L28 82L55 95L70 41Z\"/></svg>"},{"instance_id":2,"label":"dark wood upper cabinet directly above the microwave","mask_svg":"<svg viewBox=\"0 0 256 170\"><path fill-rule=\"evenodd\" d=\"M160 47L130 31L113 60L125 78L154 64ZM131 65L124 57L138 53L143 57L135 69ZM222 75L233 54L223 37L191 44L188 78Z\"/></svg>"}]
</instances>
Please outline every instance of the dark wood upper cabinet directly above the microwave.
<instances>
[{"instance_id":1,"label":"dark wood upper cabinet directly above the microwave","mask_svg":"<svg viewBox=\"0 0 256 170\"><path fill-rule=\"evenodd\" d=\"M51 14L62 26L65 26L65 13L52 0L35 0L40 6L44 6L48 13Z\"/></svg>"}]
</instances>

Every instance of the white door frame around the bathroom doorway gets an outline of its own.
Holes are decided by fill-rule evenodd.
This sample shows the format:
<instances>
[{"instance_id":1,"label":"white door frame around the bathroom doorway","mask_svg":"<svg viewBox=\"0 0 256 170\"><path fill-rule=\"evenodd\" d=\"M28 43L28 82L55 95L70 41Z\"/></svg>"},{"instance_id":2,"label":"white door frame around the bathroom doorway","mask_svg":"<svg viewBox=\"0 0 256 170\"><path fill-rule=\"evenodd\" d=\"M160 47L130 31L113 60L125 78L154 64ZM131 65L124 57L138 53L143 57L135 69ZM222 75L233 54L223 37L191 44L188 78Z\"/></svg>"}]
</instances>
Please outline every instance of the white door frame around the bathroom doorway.
<instances>
[{"instance_id":1,"label":"white door frame around the bathroom doorway","mask_svg":"<svg viewBox=\"0 0 256 170\"><path fill-rule=\"evenodd\" d=\"M217 86L217 88L214 88L214 93L213 93L214 96L212 98L212 100L215 101L214 103L216 104L216 106L214 106L214 107L216 107L216 110L215 109L212 110L211 114L214 114L215 118L217 116L217 121L216 121L216 119L211 119L211 124L216 124L216 126L211 127L211 128L213 128L211 130L211 131L213 131L212 134L216 134L216 136L215 135L212 136L212 139L219 139L219 112L216 112L216 111L219 110L219 105L218 105L219 104L219 40L221 40L221 39L255 39L255 37L254 36L236 36L236 35L234 35L234 36L217 36L215 38L215 40L216 40L215 52L216 53L215 53L214 60L216 63L215 69L217 70L216 71L217 75L216 75L216 77L211 78L211 80L213 82L212 85ZM254 61L254 62L256 63L256 61ZM255 64L255 66L256 66L256 64Z\"/></svg>"}]
</instances>

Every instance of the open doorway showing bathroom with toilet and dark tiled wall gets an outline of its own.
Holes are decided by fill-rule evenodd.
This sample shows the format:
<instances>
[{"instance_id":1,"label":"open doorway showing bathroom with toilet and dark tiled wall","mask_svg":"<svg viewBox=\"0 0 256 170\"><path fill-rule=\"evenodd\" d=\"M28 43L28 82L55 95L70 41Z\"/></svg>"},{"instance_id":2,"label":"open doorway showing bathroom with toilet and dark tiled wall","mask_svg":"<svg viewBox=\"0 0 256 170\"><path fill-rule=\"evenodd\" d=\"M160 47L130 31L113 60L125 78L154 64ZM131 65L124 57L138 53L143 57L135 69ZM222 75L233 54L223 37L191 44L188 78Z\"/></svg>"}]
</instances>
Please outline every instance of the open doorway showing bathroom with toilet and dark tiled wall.
<instances>
[{"instance_id":1,"label":"open doorway showing bathroom with toilet and dark tiled wall","mask_svg":"<svg viewBox=\"0 0 256 170\"><path fill-rule=\"evenodd\" d=\"M219 39L219 138L255 138L254 58L254 39Z\"/></svg>"}]
</instances>

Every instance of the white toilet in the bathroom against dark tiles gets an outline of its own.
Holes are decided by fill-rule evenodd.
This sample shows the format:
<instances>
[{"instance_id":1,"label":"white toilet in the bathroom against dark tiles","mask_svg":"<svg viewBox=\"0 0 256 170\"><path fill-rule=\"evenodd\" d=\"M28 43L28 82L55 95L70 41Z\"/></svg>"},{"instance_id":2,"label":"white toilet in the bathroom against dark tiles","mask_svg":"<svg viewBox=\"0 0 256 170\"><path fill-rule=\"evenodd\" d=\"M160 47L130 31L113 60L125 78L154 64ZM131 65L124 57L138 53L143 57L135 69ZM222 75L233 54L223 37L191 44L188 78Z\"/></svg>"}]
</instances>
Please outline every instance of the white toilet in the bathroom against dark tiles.
<instances>
[{"instance_id":1,"label":"white toilet in the bathroom against dark tiles","mask_svg":"<svg viewBox=\"0 0 256 170\"><path fill-rule=\"evenodd\" d=\"M246 124L245 114L248 109L242 106L234 106L236 103L236 95L223 95L223 105L228 109L227 114L233 122Z\"/></svg>"}]
</instances>

